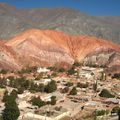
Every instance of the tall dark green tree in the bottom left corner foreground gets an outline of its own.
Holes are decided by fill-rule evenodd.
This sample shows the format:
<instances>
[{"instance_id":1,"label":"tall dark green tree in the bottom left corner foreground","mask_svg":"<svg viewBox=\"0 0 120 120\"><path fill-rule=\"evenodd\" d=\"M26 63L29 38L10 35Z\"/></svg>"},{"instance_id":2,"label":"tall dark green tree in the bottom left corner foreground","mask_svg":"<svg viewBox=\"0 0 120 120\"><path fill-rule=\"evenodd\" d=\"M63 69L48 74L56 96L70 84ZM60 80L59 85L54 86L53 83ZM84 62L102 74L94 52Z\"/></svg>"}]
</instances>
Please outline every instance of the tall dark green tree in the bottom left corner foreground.
<instances>
[{"instance_id":1,"label":"tall dark green tree in the bottom left corner foreground","mask_svg":"<svg viewBox=\"0 0 120 120\"><path fill-rule=\"evenodd\" d=\"M8 92L5 92L4 95L5 109L2 114L3 120L17 120L20 115L20 111L15 101L17 98L16 91L13 90L10 95Z\"/></svg>"}]
</instances>

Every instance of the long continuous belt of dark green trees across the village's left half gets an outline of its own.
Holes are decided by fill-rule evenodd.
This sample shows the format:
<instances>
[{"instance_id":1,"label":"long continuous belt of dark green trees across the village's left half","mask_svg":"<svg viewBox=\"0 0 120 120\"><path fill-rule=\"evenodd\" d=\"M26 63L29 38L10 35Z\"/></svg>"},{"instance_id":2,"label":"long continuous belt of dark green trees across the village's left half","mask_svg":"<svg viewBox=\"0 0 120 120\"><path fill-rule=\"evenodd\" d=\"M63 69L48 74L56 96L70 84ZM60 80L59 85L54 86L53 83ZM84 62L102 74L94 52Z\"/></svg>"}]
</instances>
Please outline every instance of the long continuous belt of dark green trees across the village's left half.
<instances>
[{"instance_id":1,"label":"long continuous belt of dark green trees across the village's left half","mask_svg":"<svg viewBox=\"0 0 120 120\"><path fill-rule=\"evenodd\" d=\"M0 87L5 88L8 84L6 79L0 79ZM25 78L9 78L8 86L16 88L19 94L22 94L24 90L29 90L30 92L47 92L51 93L57 89L57 84L55 81L49 82L47 85L44 84L36 84L33 81L26 80Z\"/></svg>"}]
</instances>

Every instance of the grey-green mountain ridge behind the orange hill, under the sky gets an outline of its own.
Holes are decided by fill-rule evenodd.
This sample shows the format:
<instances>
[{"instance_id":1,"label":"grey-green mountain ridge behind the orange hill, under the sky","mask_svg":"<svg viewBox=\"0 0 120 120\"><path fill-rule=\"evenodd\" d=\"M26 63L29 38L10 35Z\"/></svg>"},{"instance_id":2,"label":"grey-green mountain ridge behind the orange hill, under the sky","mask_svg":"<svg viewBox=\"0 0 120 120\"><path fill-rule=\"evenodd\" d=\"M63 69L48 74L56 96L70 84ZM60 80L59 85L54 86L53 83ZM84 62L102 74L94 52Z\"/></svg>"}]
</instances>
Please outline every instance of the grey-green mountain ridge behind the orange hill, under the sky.
<instances>
[{"instance_id":1,"label":"grey-green mountain ridge behind the orange hill, under the sky","mask_svg":"<svg viewBox=\"0 0 120 120\"><path fill-rule=\"evenodd\" d=\"M120 43L119 17L94 17L68 8L17 9L0 4L0 38L30 29L52 29L71 35L96 36Z\"/></svg>"}]
</instances>

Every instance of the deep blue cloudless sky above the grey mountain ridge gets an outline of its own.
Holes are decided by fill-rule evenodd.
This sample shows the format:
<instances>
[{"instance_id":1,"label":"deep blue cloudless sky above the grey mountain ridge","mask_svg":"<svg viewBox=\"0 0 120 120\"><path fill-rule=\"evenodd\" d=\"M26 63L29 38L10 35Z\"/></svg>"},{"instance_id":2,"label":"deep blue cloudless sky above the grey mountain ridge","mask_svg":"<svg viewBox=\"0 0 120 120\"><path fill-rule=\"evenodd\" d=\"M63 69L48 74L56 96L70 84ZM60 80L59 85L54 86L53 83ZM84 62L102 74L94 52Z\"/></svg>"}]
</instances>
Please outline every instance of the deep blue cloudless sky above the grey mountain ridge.
<instances>
[{"instance_id":1,"label":"deep blue cloudless sky above the grey mountain ridge","mask_svg":"<svg viewBox=\"0 0 120 120\"><path fill-rule=\"evenodd\" d=\"M120 0L0 0L17 8L77 9L93 16L120 16Z\"/></svg>"}]
</instances>

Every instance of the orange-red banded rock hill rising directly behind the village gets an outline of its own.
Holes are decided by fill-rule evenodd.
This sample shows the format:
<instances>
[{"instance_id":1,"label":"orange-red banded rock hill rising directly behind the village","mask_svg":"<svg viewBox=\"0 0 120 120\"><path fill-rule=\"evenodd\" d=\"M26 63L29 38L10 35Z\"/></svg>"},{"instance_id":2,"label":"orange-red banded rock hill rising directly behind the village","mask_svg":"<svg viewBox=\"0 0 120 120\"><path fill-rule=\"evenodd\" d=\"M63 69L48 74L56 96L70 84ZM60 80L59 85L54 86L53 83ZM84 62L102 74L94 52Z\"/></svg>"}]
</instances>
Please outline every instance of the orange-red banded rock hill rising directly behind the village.
<instances>
[{"instance_id":1,"label":"orange-red banded rock hill rising directly behind the village","mask_svg":"<svg viewBox=\"0 0 120 120\"><path fill-rule=\"evenodd\" d=\"M35 65L68 67L75 60L94 64L103 61L101 64L108 64L113 53L120 53L120 46L96 37L70 36L58 31L37 29L27 30L3 46L9 57L8 62L16 65L17 69ZM103 59L103 54L108 58Z\"/></svg>"}]
</instances>

